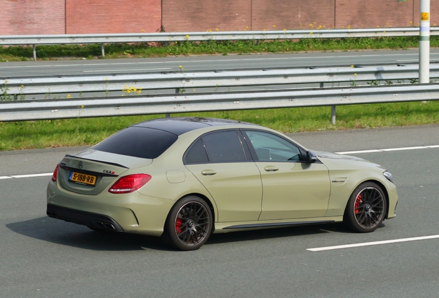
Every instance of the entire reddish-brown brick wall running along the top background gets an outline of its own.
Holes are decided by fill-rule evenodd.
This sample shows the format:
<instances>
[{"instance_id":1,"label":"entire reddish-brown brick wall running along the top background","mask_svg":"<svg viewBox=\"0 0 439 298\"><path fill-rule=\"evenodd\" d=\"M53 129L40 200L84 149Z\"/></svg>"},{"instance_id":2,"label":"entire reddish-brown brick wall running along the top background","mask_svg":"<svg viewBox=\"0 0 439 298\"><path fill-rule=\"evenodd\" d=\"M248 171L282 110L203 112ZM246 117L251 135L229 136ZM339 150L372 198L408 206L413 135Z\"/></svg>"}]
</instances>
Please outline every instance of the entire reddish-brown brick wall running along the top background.
<instances>
[{"instance_id":1,"label":"entire reddish-brown brick wall running along the top background","mask_svg":"<svg viewBox=\"0 0 439 298\"><path fill-rule=\"evenodd\" d=\"M418 26L420 0L0 0L0 35ZM431 26L439 1L431 1Z\"/></svg>"}]
</instances>

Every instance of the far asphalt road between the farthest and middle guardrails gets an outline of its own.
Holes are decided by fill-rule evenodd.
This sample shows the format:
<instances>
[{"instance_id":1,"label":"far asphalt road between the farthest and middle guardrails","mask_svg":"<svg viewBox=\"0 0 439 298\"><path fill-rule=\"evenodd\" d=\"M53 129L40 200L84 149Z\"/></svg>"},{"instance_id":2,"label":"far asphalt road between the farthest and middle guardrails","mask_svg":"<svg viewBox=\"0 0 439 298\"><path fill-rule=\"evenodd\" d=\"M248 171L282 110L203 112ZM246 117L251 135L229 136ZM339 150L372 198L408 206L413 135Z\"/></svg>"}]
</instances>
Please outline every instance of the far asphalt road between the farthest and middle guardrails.
<instances>
[{"instance_id":1,"label":"far asphalt road between the farthest and middle guardrails","mask_svg":"<svg viewBox=\"0 0 439 298\"><path fill-rule=\"evenodd\" d=\"M146 72L191 72L195 70L240 70L306 68L418 63L418 50L367 50L347 52L303 52L294 54L230 54L202 57L148 59L95 59L0 63L0 78L111 75ZM439 61L439 50L431 49L431 63ZM183 70L179 68L182 66Z\"/></svg>"}]
</instances>

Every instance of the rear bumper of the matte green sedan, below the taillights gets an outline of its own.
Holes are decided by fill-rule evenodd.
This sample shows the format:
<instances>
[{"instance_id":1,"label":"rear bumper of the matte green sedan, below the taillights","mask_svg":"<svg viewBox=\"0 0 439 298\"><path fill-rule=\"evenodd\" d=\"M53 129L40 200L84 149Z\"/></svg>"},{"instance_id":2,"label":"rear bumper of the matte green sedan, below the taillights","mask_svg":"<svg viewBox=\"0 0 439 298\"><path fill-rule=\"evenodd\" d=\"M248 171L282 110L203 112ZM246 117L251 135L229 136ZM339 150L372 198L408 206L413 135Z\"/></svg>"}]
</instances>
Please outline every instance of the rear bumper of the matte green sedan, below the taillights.
<instances>
[{"instance_id":1,"label":"rear bumper of the matte green sedan, below the taillights","mask_svg":"<svg viewBox=\"0 0 439 298\"><path fill-rule=\"evenodd\" d=\"M48 216L90 228L160 236L175 201L139 192L114 195L82 195L48 184ZM55 206L55 207L54 207ZM102 223L102 224L101 224Z\"/></svg>"}]
</instances>

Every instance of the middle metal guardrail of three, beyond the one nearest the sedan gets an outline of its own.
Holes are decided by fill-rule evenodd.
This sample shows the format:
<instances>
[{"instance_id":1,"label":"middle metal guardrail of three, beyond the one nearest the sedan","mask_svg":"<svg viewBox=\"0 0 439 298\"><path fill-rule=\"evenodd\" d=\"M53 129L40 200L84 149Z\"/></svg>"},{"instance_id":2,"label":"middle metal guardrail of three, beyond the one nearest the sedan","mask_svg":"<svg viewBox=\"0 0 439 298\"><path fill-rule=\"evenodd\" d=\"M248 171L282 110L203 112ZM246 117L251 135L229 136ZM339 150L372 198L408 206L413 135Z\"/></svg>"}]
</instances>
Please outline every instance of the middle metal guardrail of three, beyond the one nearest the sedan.
<instances>
[{"instance_id":1,"label":"middle metal guardrail of three, beyond the one nearest the sedan","mask_svg":"<svg viewBox=\"0 0 439 298\"><path fill-rule=\"evenodd\" d=\"M439 78L439 65L431 64L430 77ZM121 91L127 86L142 90L175 90L185 88L219 88L238 86L266 86L286 84L312 84L403 81L418 79L418 66L374 66L358 68L304 68L282 70L246 70L224 72L116 74L110 76L32 77L0 79L8 95L75 94L86 92ZM3 89L6 89L3 87Z\"/></svg>"}]
</instances>

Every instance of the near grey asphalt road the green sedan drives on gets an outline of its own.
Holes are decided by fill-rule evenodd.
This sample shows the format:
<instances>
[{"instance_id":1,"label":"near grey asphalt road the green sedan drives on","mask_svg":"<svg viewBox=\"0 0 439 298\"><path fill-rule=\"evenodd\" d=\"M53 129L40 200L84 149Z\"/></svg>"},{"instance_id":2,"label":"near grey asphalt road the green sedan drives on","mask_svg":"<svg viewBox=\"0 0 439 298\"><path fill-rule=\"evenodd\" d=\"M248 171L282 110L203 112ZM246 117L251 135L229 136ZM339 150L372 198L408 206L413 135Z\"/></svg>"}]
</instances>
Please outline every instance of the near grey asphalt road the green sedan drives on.
<instances>
[{"instance_id":1,"label":"near grey asphalt road the green sedan drives on","mask_svg":"<svg viewBox=\"0 0 439 298\"><path fill-rule=\"evenodd\" d=\"M52 172L80 148L1 152L0 297L439 297L439 238L309 250L439 235L439 126L291 136L330 152L404 148L355 154L393 173L397 217L370 234L340 224L235 232L179 252L50 219L50 176L12 177Z\"/></svg>"}]
</instances>

